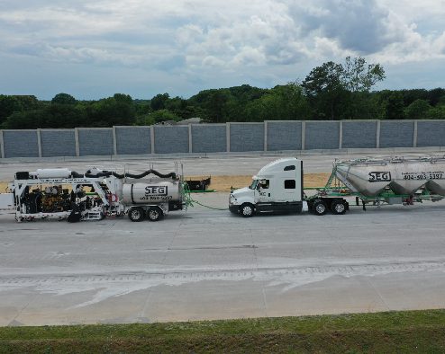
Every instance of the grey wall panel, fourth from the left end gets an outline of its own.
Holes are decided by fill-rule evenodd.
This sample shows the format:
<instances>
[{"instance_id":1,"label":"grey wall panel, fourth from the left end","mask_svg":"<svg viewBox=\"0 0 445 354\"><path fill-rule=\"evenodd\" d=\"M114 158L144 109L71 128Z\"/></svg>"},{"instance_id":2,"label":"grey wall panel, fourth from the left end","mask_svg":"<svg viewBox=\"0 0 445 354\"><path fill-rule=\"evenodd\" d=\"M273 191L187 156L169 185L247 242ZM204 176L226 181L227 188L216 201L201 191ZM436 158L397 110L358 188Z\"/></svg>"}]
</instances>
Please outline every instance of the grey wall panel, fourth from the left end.
<instances>
[{"instance_id":1,"label":"grey wall panel, fourth from the left end","mask_svg":"<svg viewBox=\"0 0 445 354\"><path fill-rule=\"evenodd\" d=\"M150 127L116 127L117 155L151 153Z\"/></svg>"}]
</instances>

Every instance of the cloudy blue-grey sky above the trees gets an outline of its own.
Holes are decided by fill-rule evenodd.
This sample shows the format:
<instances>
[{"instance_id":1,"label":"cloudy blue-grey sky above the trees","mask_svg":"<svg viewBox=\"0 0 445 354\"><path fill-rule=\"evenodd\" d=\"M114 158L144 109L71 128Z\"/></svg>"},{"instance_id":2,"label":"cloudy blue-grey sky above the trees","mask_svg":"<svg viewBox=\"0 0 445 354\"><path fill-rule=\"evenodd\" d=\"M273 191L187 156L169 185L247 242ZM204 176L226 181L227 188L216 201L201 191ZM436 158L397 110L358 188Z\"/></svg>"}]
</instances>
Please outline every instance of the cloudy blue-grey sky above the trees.
<instances>
[{"instance_id":1,"label":"cloudy blue-grey sky above the trees","mask_svg":"<svg viewBox=\"0 0 445 354\"><path fill-rule=\"evenodd\" d=\"M445 87L445 0L2 0L0 94L188 98L348 56L376 90Z\"/></svg>"}]
</instances>

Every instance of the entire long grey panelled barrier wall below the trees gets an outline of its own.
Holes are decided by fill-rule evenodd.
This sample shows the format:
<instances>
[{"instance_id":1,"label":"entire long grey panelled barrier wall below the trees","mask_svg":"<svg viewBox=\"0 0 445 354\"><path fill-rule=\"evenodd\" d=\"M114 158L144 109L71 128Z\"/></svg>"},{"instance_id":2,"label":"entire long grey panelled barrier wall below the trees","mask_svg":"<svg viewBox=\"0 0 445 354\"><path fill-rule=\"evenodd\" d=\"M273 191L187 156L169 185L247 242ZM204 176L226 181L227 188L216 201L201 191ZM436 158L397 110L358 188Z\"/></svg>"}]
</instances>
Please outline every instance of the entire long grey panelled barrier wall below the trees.
<instances>
[{"instance_id":1,"label":"entire long grey panelled barrier wall below the trees","mask_svg":"<svg viewBox=\"0 0 445 354\"><path fill-rule=\"evenodd\" d=\"M341 120L0 130L0 157L445 146L445 120Z\"/></svg>"}]
</instances>

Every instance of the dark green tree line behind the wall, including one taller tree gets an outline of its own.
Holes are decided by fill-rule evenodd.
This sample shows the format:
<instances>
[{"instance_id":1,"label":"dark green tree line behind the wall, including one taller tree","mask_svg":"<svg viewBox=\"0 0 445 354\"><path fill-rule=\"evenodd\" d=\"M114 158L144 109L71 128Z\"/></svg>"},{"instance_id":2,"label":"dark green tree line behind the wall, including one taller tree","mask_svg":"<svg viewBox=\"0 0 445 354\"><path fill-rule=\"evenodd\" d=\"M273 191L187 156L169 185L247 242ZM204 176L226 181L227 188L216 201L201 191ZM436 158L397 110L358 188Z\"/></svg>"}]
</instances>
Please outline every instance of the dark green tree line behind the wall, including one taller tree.
<instances>
[{"instance_id":1,"label":"dark green tree line behind the wall, including one taller tree","mask_svg":"<svg viewBox=\"0 0 445 354\"><path fill-rule=\"evenodd\" d=\"M302 81L270 89L242 84L204 90L189 99L159 93L148 100L128 94L79 101L58 93L51 101L0 95L0 128L76 128L152 125L199 117L209 123L264 120L445 119L445 90L372 91L386 78L364 58L316 66Z\"/></svg>"}]
</instances>

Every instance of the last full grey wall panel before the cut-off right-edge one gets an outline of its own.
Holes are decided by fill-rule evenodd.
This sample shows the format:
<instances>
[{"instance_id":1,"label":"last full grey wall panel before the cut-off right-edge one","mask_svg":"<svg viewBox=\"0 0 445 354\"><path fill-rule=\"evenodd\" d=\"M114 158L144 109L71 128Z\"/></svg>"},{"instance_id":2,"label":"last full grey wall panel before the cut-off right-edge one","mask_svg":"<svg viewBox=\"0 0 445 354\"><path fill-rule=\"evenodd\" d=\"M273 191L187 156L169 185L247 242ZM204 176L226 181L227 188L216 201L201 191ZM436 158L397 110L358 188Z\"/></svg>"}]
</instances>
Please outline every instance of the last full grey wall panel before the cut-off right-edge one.
<instances>
[{"instance_id":1,"label":"last full grey wall panel before the cut-off right-edge one","mask_svg":"<svg viewBox=\"0 0 445 354\"><path fill-rule=\"evenodd\" d=\"M380 147L413 147L413 121L380 121Z\"/></svg>"}]
</instances>

